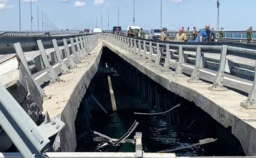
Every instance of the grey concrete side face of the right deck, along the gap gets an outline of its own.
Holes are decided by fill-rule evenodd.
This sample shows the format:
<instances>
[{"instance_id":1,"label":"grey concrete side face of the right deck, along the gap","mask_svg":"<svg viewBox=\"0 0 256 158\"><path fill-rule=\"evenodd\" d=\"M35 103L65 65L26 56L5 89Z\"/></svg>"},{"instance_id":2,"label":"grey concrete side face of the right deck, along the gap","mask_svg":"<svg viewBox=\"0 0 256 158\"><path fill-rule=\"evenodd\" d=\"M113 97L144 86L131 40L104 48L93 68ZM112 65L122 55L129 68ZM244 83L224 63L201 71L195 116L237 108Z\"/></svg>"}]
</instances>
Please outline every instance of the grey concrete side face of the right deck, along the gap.
<instances>
[{"instance_id":1,"label":"grey concrete side face of the right deck, along the gap","mask_svg":"<svg viewBox=\"0 0 256 158\"><path fill-rule=\"evenodd\" d=\"M118 56L130 63L132 66L136 67L138 70L140 70L140 72L150 77L150 79L153 79L157 83L161 84L161 86L167 90L172 91L173 93L183 97L186 100L195 102L196 106L202 108L206 113L211 115L214 120L221 123L221 125L224 127L227 128L231 126L231 132L240 140L245 154L256 155L256 144L253 141L256 139L256 129L251 125L244 122L244 120L241 120L237 116L232 115L222 107L218 106L214 100L210 100L203 94L198 93L198 91L182 86L176 82L171 83L168 79L162 77L161 75L156 74L152 70L148 70L148 68L143 67L140 65L140 63L134 61L134 59L131 59L129 56L126 56L122 52L116 50L114 47L112 47L112 44L109 44L109 42L104 42L103 45L108 47L111 51L115 52ZM205 108L205 106L203 106L205 104L207 104L209 108Z\"/></svg>"}]
</instances>

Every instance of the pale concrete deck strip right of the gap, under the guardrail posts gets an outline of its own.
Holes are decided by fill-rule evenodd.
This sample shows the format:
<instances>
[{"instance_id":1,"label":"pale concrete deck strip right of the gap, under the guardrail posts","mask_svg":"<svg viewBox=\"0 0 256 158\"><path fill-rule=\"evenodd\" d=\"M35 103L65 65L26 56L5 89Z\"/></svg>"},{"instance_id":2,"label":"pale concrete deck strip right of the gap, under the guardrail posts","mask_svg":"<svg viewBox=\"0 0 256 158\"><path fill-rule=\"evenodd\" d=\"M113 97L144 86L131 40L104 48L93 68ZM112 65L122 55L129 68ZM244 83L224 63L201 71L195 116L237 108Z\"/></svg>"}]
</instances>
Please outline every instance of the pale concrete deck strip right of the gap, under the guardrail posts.
<instances>
[{"instance_id":1,"label":"pale concrete deck strip right of the gap, under the guardrail posts","mask_svg":"<svg viewBox=\"0 0 256 158\"><path fill-rule=\"evenodd\" d=\"M189 77L175 77L172 75L174 72L164 72L161 66L154 66L152 63L143 60L142 57L124 51L112 43L104 41L104 45L167 90L184 97L184 99L195 102L196 106L203 109L224 127L231 127L230 132L240 140L246 155L256 155L256 110L245 109L240 106L240 103L245 102L247 99L240 93L232 90L208 90L211 86L209 83L214 81L216 72L211 74L211 70L202 68L200 78L208 83L188 83ZM175 61L171 60L171 68L177 67ZM192 71L193 66L184 64L184 74L191 74ZM244 82L245 80L231 77L231 75L225 75L225 77L223 83L228 88L250 91L250 85L248 84L252 84L252 82Z\"/></svg>"}]
</instances>

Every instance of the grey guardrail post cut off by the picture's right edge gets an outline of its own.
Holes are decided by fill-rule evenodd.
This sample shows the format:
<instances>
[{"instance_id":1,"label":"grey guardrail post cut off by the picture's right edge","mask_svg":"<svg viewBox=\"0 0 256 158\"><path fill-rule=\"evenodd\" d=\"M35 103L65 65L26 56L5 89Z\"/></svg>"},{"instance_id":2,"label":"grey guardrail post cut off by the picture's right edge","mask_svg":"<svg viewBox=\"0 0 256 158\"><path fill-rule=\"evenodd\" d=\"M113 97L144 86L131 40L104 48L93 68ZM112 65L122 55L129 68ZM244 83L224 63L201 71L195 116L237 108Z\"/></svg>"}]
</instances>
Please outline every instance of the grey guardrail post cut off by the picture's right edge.
<instances>
[{"instance_id":1,"label":"grey guardrail post cut off by the picture's right edge","mask_svg":"<svg viewBox=\"0 0 256 158\"><path fill-rule=\"evenodd\" d=\"M256 72L256 67L255 67ZM246 109L256 109L256 73L254 73L254 81L252 84L252 89L248 95L246 102L241 102L240 104Z\"/></svg>"}]
</instances>

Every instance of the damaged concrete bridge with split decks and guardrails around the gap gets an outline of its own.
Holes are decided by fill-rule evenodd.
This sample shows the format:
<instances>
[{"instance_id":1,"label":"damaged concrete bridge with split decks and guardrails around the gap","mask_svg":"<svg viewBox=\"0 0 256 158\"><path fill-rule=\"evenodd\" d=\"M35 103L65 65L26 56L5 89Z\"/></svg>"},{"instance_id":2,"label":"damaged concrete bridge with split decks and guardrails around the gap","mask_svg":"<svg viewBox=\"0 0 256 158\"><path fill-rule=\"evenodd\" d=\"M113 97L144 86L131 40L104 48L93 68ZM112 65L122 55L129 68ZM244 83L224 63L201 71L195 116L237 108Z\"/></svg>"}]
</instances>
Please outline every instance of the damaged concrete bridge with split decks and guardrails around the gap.
<instances>
[{"instance_id":1,"label":"damaged concrete bridge with split decks and guardrails around the gap","mask_svg":"<svg viewBox=\"0 0 256 158\"><path fill-rule=\"evenodd\" d=\"M156 104L157 112L163 109L159 102L164 98L143 81L143 76L136 75L138 72L194 102L230 128L246 155L256 155L254 44L232 42L232 38L215 43L160 42L111 33L52 37L47 42L53 48L45 48L42 39L34 42L37 47L33 51L13 42L15 54L0 56L0 133L4 130L8 134L3 138L4 145L13 142L20 151L0 157L176 157L144 153L138 132L134 153L72 153L77 145L77 109L83 105L84 111L91 110L90 100L84 95L106 49L122 58L116 61L116 68L128 67L136 91L147 98L148 104ZM115 91L109 93L115 100ZM118 110L114 102L111 109L99 102L97 106L107 113ZM88 113L84 117L90 119ZM58 149L61 152L52 152Z\"/></svg>"}]
</instances>

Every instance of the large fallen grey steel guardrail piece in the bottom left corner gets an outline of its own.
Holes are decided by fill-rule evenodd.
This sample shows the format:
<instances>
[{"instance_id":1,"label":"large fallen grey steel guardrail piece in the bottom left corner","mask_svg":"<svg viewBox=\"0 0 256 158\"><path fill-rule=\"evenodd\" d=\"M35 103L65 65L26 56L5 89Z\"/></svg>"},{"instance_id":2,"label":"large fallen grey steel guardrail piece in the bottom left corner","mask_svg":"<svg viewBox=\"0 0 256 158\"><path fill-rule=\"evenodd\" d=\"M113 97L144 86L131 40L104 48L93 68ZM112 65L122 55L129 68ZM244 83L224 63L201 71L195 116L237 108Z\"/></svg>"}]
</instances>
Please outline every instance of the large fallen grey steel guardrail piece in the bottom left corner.
<instances>
[{"instance_id":1,"label":"large fallen grey steel guardrail piece in the bottom left corner","mask_svg":"<svg viewBox=\"0 0 256 158\"><path fill-rule=\"evenodd\" d=\"M24 157L45 157L48 139L65 126L59 118L37 126L0 83L0 125ZM15 156L14 156L15 157Z\"/></svg>"}]
</instances>

